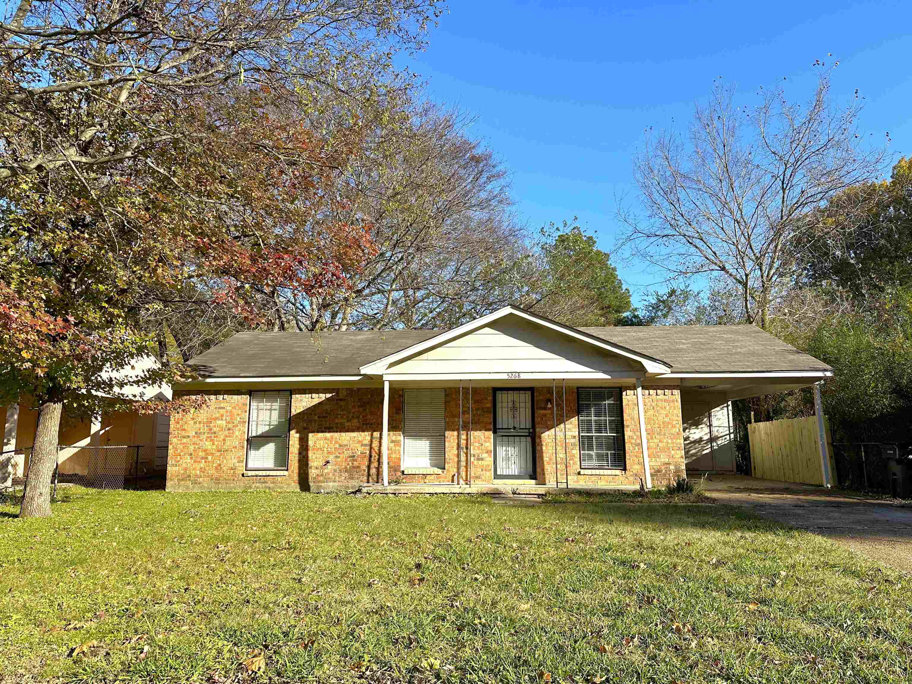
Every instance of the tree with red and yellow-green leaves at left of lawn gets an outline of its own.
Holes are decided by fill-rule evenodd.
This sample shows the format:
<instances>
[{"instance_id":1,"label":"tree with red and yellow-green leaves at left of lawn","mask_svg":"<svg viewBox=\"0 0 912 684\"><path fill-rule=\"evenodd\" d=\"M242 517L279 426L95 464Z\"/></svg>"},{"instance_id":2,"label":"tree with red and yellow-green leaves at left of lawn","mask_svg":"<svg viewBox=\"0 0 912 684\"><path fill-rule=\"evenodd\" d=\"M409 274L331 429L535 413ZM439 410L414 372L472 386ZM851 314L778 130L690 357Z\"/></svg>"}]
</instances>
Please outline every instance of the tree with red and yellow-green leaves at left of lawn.
<instances>
[{"instance_id":1,"label":"tree with red and yellow-green leaves at left of lawn","mask_svg":"<svg viewBox=\"0 0 912 684\"><path fill-rule=\"evenodd\" d=\"M408 88L433 0L33 4L0 25L0 399L39 410L22 516L49 515L63 405L125 404L149 321L193 288L251 324L347 287L361 112ZM321 108L331 108L326 125ZM277 301L277 299L276 299Z\"/></svg>"}]
</instances>

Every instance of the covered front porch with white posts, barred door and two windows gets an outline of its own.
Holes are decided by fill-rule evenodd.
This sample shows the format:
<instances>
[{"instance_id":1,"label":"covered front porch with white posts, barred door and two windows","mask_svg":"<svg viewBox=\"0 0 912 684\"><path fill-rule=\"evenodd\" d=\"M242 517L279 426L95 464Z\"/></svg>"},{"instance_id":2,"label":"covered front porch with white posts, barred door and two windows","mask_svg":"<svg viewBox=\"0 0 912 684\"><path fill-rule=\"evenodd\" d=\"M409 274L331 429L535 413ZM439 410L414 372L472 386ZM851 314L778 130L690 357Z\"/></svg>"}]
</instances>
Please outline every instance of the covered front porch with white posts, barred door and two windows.
<instances>
[{"instance_id":1,"label":"covered front porch with white posts, barred door and two windows","mask_svg":"<svg viewBox=\"0 0 912 684\"><path fill-rule=\"evenodd\" d=\"M362 491L631 490L684 474L673 385L384 380L383 399L379 477Z\"/></svg>"}]
</instances>

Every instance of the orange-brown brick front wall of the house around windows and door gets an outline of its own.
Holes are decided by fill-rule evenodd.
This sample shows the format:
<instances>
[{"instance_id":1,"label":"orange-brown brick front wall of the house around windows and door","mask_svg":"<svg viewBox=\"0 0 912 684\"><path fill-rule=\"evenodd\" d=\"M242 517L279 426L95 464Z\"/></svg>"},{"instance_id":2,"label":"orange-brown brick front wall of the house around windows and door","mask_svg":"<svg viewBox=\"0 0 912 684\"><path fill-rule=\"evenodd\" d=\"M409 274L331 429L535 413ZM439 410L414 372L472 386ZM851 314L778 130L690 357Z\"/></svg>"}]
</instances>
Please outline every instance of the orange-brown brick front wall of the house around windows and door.
<instances>
[{"instance_id":1,"label":"orange-brown brick front wall of the house around windows and door","mask_svg":"<svg viewBox=\"0 0 912 684\"><path fill-rule=\"evenodd\" d=\"M186 392L176 392L181 396ZM171 418L168 489L300 489L312 492L354 489L363 482L382 482L380 437L383 390L366 388L292 391L288 474L283 477L244 477L248 392L205 392L210 401L191 413ZM557 451L554 452L554 413L547 408L551 388L536 388L536 479L554 485L636 486L643 477L637 397L623 393L627 469L581 474L576 421L576 391L567 388L566 451L564 402L558 385ZM445 390L446 461L442 473L403 474L402 389L389 393L389 481L408 483L455 482L459 440L459 389ZM677 387L643 389L650 472L654 486L684 473L680 393ZM492 389L472 390L472 482L492 482ZM461 479L470 474L469 391L463 390ZM556 457L556 458L555 458Z\"/></svg>"}]
</instances>

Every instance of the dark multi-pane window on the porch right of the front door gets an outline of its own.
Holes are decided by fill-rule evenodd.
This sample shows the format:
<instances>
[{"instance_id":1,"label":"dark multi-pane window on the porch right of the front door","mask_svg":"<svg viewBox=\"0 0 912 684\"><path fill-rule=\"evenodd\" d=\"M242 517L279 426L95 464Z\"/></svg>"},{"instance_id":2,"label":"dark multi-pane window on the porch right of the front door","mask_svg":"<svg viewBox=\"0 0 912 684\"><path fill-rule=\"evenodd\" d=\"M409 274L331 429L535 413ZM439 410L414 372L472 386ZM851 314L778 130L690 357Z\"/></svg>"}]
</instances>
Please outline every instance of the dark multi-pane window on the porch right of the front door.
<instances>
[{"instance_id":1,"label":"dark multi-pane window on the porch right of the front door","mask_svg":"<svg viewBox=\"0 0 912 684\"><path fill-rule=\"evenodd\" d=\"M625 468L621 390L578 388L576 409L580 466L585 469Z\"/></svg>"}]
</instances>

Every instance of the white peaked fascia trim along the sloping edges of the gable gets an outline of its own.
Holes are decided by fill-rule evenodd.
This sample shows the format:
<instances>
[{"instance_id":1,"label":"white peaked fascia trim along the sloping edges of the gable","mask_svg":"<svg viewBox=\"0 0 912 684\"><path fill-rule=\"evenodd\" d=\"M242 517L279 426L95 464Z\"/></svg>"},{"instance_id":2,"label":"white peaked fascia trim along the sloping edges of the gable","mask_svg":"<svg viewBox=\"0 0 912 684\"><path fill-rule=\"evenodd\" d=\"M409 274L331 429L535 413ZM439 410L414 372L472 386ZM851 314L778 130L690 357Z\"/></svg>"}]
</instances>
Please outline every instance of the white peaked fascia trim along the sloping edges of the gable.
<instances>
[{"instance_id":1,"label":"white peaked fascia trim along the sloping edges of the gable","mask_svg":"<svg viewBox=\"0 0 912 684\"><path fill-rule=\"evenodd\" d=\"M403 358L408 358L414 354L420 354L420 352L424 351L425 349L430 349L430 347L437 347L438 345L447 342L448 340L451 340L455 337L460 337L466 333L470 333L472 330L476 330L480 327L487 326L489 323L492 323L499 318L503 318L503 316L510 316L511 314L513 316L524 318L525 320L531 321L532 323L537 323L540 326L548 327L559 333L563 333L566 336L574 337L575 339L587 342L593 347L600 347L606 351L617 354L618 356L633 359L634 361L637 361L637 363L643 364L643 367L646 368L647 373L668 373L668 371L671 370L671 367L668 366L668 364L664 363L658 358L652 358L637 354L630 349L627 349L625 347L618 347L617 345L613 345L604 339L589 335L588 333L584 333L582 330L577 330L575 327L564 326L547 318L534 316L527 311L523 311L523 309L517 309L513 306L504 306L502 309L498 309L492 314L482 316L481 318L476 318L475 320L464 323L459 327L454 327L452 330L440 333L440 335L430 337L430 339L426 339L423 342L412 345L411 347L406 347L398 352L389 354L389 356L378 358L376 361L371 361L367 365L358 368L358 370L365 375L380 375L386 371L387 368L389 368L390 364L396 363L397 361Z\"/></svg>"}]
</instances>

